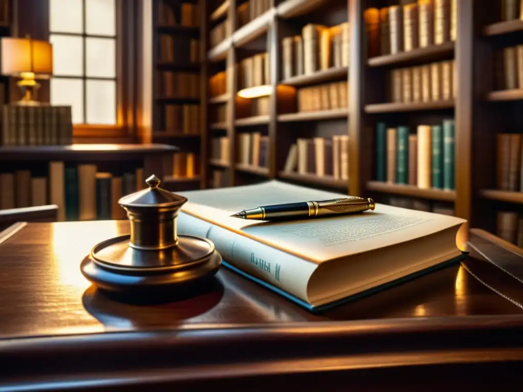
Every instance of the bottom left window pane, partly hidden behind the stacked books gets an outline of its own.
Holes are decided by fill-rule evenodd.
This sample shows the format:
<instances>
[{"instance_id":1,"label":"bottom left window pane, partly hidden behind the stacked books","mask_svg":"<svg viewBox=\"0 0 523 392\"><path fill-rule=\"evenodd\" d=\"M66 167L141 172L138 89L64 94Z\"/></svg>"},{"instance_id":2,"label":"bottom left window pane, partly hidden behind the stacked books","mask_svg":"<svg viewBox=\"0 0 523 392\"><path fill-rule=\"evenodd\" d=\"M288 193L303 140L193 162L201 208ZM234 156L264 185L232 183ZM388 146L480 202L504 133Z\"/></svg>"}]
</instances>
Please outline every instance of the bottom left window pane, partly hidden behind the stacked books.
<instances>
[{"instance_id":1,"label":"bottom left window pane, partly hidden behind the stacked books","mask_svg":"<svg viewBox=\"0 0 523 392\"><path fill-rule=\"evenodd\" d=\"M84 81L82 79L51 79L51 105L71 105L73 124L84 122Z\"/></svg>"}]
</instances>

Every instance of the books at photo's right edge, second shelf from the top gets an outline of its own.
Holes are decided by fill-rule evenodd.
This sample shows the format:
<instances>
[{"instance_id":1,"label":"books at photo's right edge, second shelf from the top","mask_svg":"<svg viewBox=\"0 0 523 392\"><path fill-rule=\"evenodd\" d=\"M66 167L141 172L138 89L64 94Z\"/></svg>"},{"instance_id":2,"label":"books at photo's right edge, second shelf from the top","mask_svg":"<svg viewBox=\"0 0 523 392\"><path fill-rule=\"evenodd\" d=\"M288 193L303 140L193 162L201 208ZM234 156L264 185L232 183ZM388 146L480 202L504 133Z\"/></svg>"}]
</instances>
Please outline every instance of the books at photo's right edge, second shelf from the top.
<instances>
[{"instance_id":1,"label":"books at photo's right edge, second shelf from the top","mask_svg":"<svg viewBox=\"0 0 523 392\"><path fill-rule=\"evenodd\" d=\"M523 45L497 51L495 89L523 88Z\"/></svg>"}]
</instances>

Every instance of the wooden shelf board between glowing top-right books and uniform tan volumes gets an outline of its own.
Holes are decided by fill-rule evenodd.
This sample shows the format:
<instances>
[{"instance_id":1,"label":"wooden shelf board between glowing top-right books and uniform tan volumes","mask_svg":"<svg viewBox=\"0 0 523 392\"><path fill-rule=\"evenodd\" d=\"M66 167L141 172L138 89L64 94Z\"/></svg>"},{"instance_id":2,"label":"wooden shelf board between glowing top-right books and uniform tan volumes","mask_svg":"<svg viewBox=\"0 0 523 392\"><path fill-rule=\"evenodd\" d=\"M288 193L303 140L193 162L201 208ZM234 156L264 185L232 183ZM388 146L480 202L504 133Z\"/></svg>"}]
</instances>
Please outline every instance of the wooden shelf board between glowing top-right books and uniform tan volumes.
<instances>
[{"instance_id":1,"label":"wooden shelf board between glowing top-right books and uniform tan volumes","mask_svg":"<svg viewBox=\"0 0 523 392\"><path fill-rule=\"evenodd\" d=\"M454 42L445 42L440 45L430 45L426 48L417 48L408 52L371 57L367 61L367 65L370 67L414 65L448 59L453 54Z\"/></svg>"}]
</instances>

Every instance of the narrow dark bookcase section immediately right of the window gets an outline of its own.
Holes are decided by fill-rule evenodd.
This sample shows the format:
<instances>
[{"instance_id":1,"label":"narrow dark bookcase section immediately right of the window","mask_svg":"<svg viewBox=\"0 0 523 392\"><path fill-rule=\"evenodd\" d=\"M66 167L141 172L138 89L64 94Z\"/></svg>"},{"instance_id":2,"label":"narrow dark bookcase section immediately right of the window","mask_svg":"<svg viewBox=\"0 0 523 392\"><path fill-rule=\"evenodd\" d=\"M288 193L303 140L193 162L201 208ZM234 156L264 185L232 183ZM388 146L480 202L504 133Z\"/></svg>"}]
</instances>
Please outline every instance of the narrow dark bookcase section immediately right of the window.
<instances>
[{"instance_id":1,"label":"narrow dark bookcase section immediately right of the window","mask_svg":"<svg viewBox=\"0 0 523 392\"><path fill-rule=\"evenodd\" d=\"M174 190L205 186L207 65L205 2L152 2L152 143L179 147L165 179Z\"/></svg>"}]
</instances>

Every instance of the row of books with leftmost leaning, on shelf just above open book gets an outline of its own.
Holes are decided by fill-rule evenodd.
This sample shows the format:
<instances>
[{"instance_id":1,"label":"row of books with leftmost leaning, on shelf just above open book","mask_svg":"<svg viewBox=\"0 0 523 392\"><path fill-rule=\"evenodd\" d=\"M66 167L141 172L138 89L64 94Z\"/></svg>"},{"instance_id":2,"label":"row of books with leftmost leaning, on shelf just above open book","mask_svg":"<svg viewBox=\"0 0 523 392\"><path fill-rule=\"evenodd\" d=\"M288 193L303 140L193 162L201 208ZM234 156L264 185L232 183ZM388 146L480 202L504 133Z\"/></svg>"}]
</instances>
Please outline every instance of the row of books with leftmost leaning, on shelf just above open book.
<instances>
[{"instance_id":1,"label":"row of books with leftmost leaning, on shelf just above open book","mask_svg":"<svg viewBox=\"0 0 523 392\"><path fill-rule=\"evenodd\" d=\"M349 179L349 136L335 135L332 138L299 137L289 148L283 168L285 172L318 177L333 176L334 179Z\"/></svg>"}]
</instances>

